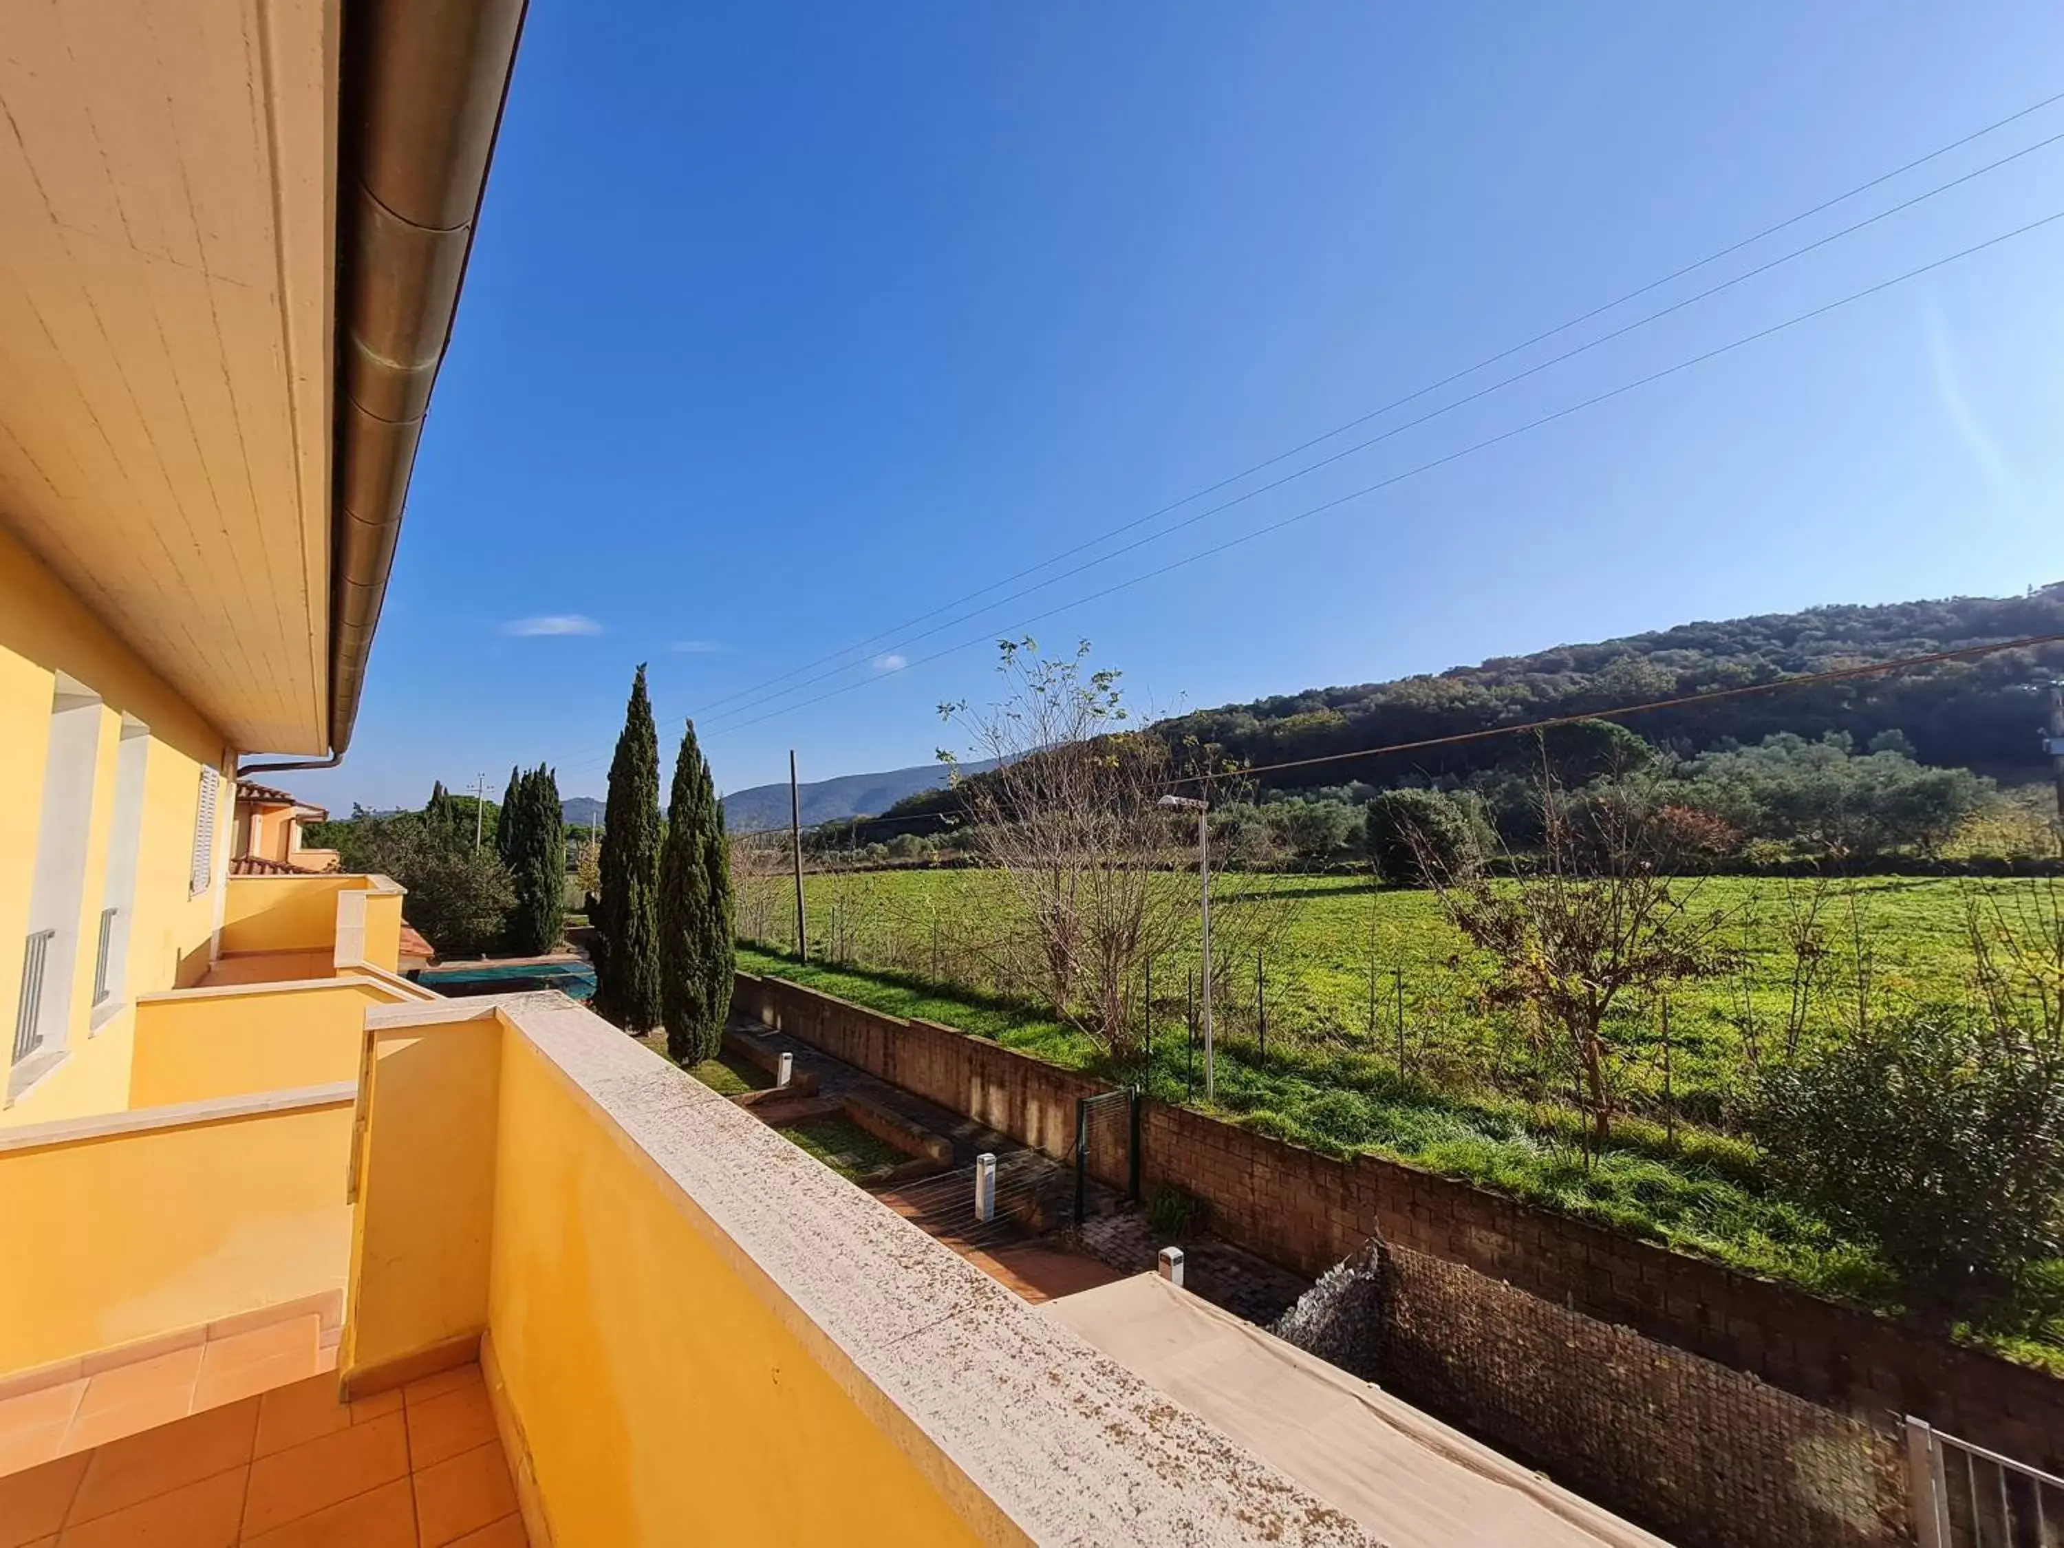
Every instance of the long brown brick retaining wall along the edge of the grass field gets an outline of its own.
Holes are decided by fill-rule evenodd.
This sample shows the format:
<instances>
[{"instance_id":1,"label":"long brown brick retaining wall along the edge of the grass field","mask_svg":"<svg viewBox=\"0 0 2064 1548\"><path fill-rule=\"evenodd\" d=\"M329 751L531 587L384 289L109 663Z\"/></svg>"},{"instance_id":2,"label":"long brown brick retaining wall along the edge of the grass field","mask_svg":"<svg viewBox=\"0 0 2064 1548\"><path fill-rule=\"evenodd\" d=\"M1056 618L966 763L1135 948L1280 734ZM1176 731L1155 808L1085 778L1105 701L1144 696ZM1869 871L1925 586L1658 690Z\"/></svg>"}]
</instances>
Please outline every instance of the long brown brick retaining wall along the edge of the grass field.
<instances>
[{"instance_id":1,"label":"long brown brick retaining wall along the edge of the grass field","mask_svg":"<svg viewBox=\"0 0 2064 1548\"><path fill-rule=\"evenodd\" d=\"M741 972L733 1009L1051 1156L1073 1152L1075 1100L1108 1090L954 1028L778 978ZM1092 1170L1123 1183L1125 1158L1106 1150L1092 1148ZM1141 1150L1148 1191L1172 1183L1195 1193L1226 1240L1300 1273L1323 1273L1381 1232L1800 1397L1872 1420L1920 1414L2064 1472L2064 1381L1905 1323L1416 1166L1335 1160L1162 1102L1148 1102Z\"/></svg>"}]
</instances>

